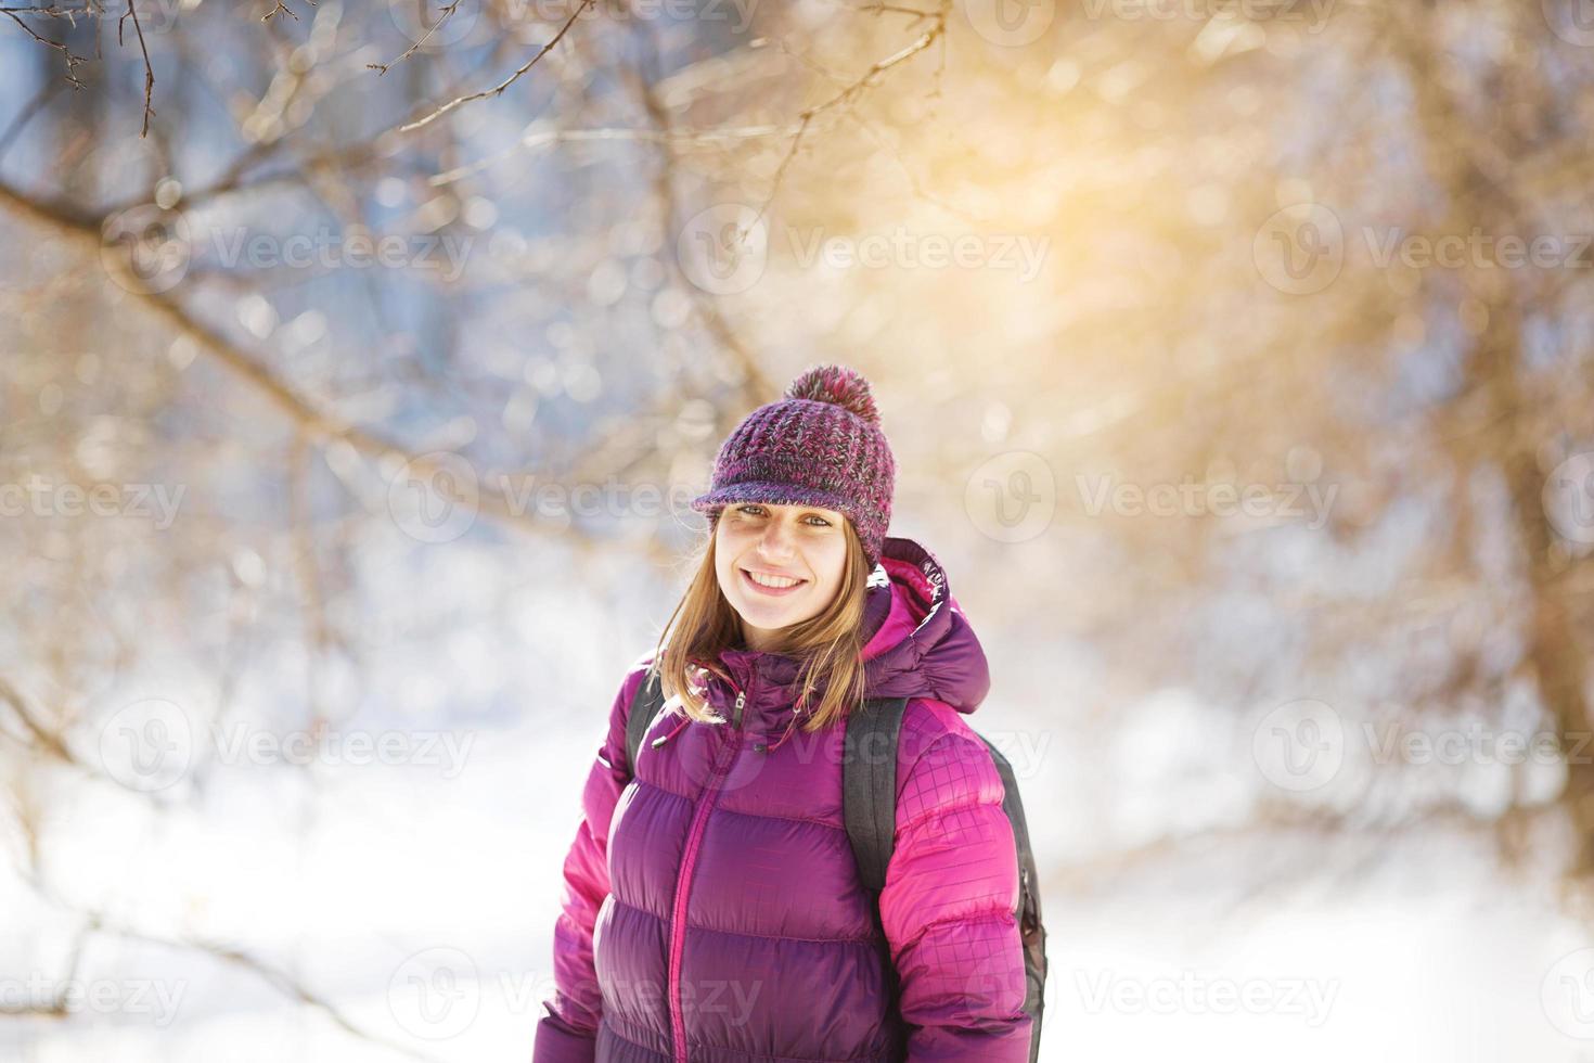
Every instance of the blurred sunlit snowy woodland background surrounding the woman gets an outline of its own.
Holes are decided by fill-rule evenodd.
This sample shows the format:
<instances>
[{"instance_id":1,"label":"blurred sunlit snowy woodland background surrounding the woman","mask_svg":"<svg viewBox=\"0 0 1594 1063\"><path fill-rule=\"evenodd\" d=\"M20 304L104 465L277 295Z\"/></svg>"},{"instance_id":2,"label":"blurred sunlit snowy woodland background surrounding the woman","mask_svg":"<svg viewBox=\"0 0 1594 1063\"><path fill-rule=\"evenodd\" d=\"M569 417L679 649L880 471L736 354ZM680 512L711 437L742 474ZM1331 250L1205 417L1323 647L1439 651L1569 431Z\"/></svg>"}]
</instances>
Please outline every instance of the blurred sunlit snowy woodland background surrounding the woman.
<instances>
[{"instance_id":1,"label":"blurred sunlit snowy woodland background surrounding the woman","mask_svg":"<svg viewBox=\"0 0 1594 1063\"><path fill-rule=\"evenodd\" d=\"M1594 1060L1573 0L135 11L0 10L0 1057L526 1058L684 499L840 360L1042 1060Z\"/></svg>"}]
</instances>

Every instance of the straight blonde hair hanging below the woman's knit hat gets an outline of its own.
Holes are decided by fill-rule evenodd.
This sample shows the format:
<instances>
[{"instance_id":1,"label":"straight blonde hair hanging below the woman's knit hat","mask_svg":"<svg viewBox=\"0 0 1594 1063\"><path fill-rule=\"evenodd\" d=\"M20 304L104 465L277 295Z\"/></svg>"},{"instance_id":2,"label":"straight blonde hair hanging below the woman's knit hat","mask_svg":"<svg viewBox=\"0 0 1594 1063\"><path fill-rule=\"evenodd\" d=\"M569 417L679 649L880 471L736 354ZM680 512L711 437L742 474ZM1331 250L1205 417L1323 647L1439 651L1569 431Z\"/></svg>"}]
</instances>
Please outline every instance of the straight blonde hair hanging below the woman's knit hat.
<instances>
[{"instance_id":1,"label":"straight blonde hair hanging below the woman's knit hat","mask_svg":"<svg viewBox=\"0 0 1594 1063\"><path fill-rule=\"evenodd\" d=\"M797 669L797 712L808 714L805 732L816 732L843 719L864 696L864 593L869 583L869 561L853 521L846 524L846 561L835 596L816 615L781 628L775 653L794 657ZM658 636L652 671L658 673L665 696L679 695L681 709L703 724L722 724L724 717L698 695L687 669L693 665L725 676L719 655L727 649L744 649L741 617L725 599L714 572L716 534L698 556L697 572L676 604ZM824 681L818 708L810 711L813 693Z\"/></svg>"}]
</instances>

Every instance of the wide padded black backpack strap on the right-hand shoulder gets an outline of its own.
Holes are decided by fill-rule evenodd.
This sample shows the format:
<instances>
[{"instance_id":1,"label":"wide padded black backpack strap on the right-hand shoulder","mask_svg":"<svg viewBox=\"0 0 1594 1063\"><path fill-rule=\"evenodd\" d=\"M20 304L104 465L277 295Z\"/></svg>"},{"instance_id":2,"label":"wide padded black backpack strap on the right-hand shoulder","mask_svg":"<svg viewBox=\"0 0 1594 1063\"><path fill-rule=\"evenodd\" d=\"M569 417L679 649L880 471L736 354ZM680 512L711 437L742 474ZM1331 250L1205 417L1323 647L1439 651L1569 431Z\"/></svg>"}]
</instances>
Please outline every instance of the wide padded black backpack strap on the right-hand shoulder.
<instances>
[{"instance_id":1,"label":"wide padded black backpack strap on the right-hand shoulder","mask_svg":"<svg viewBox=\"0 0 1594 1063\"><path fill-rule=\"evenodd\" d=\"M907 698L872 698L846 716L842 813L864 886L880 894L896 845L896 747Z\"/></svg>"}]
</instances>

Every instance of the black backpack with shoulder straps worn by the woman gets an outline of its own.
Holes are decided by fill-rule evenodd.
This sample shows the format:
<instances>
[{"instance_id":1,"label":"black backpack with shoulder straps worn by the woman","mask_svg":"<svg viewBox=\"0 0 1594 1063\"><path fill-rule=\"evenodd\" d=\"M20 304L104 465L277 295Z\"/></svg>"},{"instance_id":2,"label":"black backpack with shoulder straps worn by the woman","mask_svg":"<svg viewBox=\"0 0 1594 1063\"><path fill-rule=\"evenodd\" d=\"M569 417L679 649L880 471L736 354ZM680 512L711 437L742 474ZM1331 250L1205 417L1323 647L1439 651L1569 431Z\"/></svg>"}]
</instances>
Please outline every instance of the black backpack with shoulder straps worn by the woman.
<instances>
[{"instance_id":1,"label":"black backpack with shoulder straps worn by the woman","mask_svg":"<svg viewBox=\"0 0 1594 1063\"><path fill-rule=\"evenodd\" d=\"M634 765L649 725L663 708L658 674L649 671L631 700L625 727L626 763ZM861 751L896 749L902 733L907 698L867 698L862 711L846 717L845 754L842 762L842 806L846 837L864 880L875 899L875 926L880 926L880 891L886 885L886 865L896 843L896 757L862 757ZM979 732L976 732L979 733ZM1041 1053L1041 1012L1046 1006L1046 926L1041 923L1041 891L1035 875L1035 853L1030 849L1030 827L1019 798L1019 781L1012 765L988 738L980 741L991 754L1003 784L1003 811L1012 824L1019 857L1019 937L1023 942L1023 1014L1030 1017L1030 1063ZM881 940L885 929L881 928ZM896 996L896 964L886 958L886 974Z\"/></svg>"}]
</instances>

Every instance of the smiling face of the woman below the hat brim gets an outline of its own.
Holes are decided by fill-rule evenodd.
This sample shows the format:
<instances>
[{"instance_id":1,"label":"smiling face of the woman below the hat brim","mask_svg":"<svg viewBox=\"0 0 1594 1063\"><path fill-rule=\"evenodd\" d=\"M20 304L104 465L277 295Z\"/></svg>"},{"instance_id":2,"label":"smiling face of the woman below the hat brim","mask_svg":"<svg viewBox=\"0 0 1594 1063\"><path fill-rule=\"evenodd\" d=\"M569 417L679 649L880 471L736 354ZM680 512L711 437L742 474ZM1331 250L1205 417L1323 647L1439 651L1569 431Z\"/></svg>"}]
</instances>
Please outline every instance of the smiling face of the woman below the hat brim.
<instances>
[{"instance_id":1,"label":"smiling face of the woman below the hat brim","mask_svg":"<svg viewBox=\"0 0 1594 1063\"><path fill-rule=\"evenodd\" d=\"M816 505L730 502L719 515L714 574L741 617L749 649L764 650L781 628L816 617L835 598L845 566L843 513Z\"/></svg>"}]
</instances>

